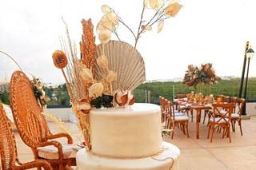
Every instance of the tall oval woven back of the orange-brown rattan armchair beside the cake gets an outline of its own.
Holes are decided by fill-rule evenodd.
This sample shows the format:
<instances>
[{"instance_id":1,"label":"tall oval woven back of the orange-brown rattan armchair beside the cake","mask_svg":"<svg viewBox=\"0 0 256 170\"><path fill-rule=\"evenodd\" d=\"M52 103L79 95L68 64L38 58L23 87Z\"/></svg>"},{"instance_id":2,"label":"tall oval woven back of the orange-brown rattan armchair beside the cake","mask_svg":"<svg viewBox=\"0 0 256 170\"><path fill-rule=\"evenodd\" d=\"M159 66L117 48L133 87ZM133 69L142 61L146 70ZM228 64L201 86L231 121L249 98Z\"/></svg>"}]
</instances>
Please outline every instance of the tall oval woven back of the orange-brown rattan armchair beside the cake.
<instances>
[{"instance_id":1,"label":"tall oval woven back of the orange-brown rattan armchair beside the cake","mask_svg":"<svg viewBox=\"0 0 256 170\"><path fill-rule=\"evenodd\" d=\"M41 114L42 108L34 96L33 87L25 73L15 71L10 81L10 107L15 125L22 140L30 147L46 141L46 120Z\"/></svg>"}]
</instances>

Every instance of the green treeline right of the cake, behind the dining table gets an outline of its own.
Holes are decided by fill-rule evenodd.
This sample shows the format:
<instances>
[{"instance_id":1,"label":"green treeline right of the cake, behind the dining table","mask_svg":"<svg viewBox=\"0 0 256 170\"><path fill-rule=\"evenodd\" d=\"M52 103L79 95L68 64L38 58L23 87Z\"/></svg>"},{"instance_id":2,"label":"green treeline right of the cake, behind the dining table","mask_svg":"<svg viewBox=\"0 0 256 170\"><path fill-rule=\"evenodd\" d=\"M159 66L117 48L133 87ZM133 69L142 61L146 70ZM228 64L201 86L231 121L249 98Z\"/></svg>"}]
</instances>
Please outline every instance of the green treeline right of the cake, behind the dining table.
<instances>
[{"instance_id":1,"label":"green treeline right of the cake, behind the dining table","mask_svg":"<svg viewBox=\"0 0 256 170\"><path fill-rule=\"evenodd\" d=\"M238 96L239 87L240 78L223 77L222 81L220 81L217 85L213 85L211 90L209 87L205 86L202 93L204 95L209 95L209 93L212 93L214 95L224 94L227 96ZM171 100L177 93L190 93L191 91L198 93L198 89L194 89L194 87L188 87L181 81L146 82L134 90L136 101L145 101L145 90L150 90L150 101L152 102L158 102L159 96L166 97ZM256 98L256 77L250 77L248 80L247 98Z\"/></svg>"}]
</instances>

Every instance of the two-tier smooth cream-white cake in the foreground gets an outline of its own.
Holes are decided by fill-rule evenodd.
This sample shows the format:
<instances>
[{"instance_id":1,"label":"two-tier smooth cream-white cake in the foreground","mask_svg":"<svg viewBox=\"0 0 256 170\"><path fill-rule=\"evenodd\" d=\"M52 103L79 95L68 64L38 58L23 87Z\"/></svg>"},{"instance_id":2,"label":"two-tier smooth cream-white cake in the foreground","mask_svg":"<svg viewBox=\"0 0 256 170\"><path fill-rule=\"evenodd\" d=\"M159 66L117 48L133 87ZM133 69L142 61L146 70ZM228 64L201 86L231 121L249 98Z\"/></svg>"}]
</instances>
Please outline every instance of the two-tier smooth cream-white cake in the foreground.
<instances>
[{"instance_id":1,"label":"two-tier smooth cream-white cake in the foreground","mask_svg":"<svg viewBox=\"0 0 256 170\"><path fill-rule=\"evenodd\" d=\"M162 141L158 105L90 112L92 149L77 154L79 170L178 169L179 149Z\"/></svg>"}]
</instances>

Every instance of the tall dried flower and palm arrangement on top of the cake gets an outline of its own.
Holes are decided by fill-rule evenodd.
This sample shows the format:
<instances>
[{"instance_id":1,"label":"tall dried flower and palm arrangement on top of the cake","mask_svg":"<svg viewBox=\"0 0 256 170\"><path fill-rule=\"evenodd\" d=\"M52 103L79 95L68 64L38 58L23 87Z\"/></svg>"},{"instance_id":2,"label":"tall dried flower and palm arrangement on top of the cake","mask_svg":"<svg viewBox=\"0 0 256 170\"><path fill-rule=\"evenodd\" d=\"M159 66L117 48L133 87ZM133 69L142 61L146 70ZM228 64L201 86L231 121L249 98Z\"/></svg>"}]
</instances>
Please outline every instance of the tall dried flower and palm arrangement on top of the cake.
<instances>
[{"instance_id":1,"label":"tall dried flower and palm arrangement on top of the cake","mask_svg":"<svg viewBox=\"0 0 256 170\"><path fill-rule=\"evenodd\" d=\"M70 103L78 117L85 145L90 150L89 113L94 108L133 105L131 91L146 80L145 65L136 46L142 34L158 24L158 33L164 21L178 14L182 6L176 1L143 1L142 14L137 34L118 16L110 6L103 5L103 16L96 31L100 45L95 44L94 26L91 20L82 19L80 53L71 41L66 22L66 38L61 39L62 50L52 57L54 65L62 70L70 95ZM154 12L150 19L144 18L146 10ZM118 27L125 26L134 37L134 46L121 41ZM110 40L112 34L118 41Z\"/></svg>"}]
</instances>

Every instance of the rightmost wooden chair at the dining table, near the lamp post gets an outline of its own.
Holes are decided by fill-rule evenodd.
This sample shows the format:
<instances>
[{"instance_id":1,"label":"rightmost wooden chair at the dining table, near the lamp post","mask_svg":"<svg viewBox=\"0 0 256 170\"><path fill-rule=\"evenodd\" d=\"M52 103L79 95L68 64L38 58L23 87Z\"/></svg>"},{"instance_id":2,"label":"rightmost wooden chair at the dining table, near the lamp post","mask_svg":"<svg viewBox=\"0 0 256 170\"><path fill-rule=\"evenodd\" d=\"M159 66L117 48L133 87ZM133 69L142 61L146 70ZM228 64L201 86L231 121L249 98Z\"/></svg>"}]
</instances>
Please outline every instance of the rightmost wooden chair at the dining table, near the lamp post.
<instances>
[{"instance_id":1,"label":"rightmost wooden chair at the dining table, near the lamp post","mask_svg":"<svg viewBox=\"0 0 256 170\"><path fill-rule=\"evenodd\" d=\"M238 122L238 125L240 127L240 132L242 136L242 109L245 105L245 99L243 98L236 98L235 102L236 103L236 108L234 108L234 112L231 114L231 125L232 125L232 130L235 132L235 123Z\"/></svg>"}]
</instances>

